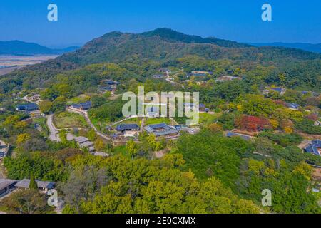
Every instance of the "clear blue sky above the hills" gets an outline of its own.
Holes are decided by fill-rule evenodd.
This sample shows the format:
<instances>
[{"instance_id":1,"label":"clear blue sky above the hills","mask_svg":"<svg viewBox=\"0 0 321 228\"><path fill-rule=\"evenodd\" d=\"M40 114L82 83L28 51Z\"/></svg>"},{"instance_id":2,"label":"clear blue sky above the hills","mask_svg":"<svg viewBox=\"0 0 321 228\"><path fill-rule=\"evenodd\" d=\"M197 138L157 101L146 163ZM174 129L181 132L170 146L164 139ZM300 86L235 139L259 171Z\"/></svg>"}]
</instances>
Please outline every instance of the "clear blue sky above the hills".
<instances>
[{"instance_id":1,"label":"clear blue sky above the hills","mask_svg":"<svg viewBox=\"0 0 321 228\"><path fill-rule=\"evenodd\" d=\"M47 20L50 3L58 6L58 21ZM264 3L272 5L272 21L261 20ZM321 43L321 1L0 1L0 41L68 46L109 31L138 33L163 27L240 42Z\"/></svg>"}]
</instances>

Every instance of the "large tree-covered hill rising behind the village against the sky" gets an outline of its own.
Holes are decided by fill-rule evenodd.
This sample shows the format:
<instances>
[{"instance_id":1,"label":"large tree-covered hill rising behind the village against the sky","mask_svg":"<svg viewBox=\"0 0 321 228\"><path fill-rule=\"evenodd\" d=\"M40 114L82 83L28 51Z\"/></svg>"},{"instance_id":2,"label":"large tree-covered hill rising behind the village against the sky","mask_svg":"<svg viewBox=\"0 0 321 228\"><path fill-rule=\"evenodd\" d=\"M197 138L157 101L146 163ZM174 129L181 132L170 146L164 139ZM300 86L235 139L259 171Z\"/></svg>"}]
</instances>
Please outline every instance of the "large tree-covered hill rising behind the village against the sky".
<instances>
[{"instance_id":1,"label":"large tree-covered hill rising behind the village against the sky","mask_svg":"<svg viewBox=\"0 0 321 228\"><path fill-rule=\"evenodd\" d=\"M55 60L14 71L0 78L0 90L4 93L20 88L24 79L29 86L43 87L57 73L81 68L92 63L121 63L142 66L157 62L163 66L173 65L178 58L198 56L205 60L229 59L243 64L277 67L302 61L319 61L321 55L292 48L255 47L218 38L189 36L168 28L158 28L146 33L111 32L86 43L83 48L66 53ZM315 64L312 64L315 66ZM316 66L320 66L319 62ZM31 80L32 78L32 80Z\"/></svg>"}]
</instances>

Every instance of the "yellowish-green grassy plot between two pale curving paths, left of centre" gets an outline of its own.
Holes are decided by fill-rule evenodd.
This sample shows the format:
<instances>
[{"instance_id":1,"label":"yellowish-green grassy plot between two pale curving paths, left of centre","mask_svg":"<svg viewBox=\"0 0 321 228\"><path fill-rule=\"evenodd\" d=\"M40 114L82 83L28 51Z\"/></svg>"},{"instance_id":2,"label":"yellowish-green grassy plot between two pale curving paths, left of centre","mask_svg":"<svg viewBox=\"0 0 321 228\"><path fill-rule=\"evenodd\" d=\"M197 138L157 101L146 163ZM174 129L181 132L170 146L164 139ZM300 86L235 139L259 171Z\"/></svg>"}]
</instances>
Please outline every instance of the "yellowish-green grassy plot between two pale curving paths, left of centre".
<instances>
[{"instance_id":1,"label":"yellowish-green grassy plot between two pale curving paths, left of centre","mask_svg":"<svg viewBox=\"0 0 321 228\"><path fill-rule=\"evenodd\" d=\"M54 115L56 128L88 128L85 118L76 113L63 112Z\"/></svg>"}]
</instances>

